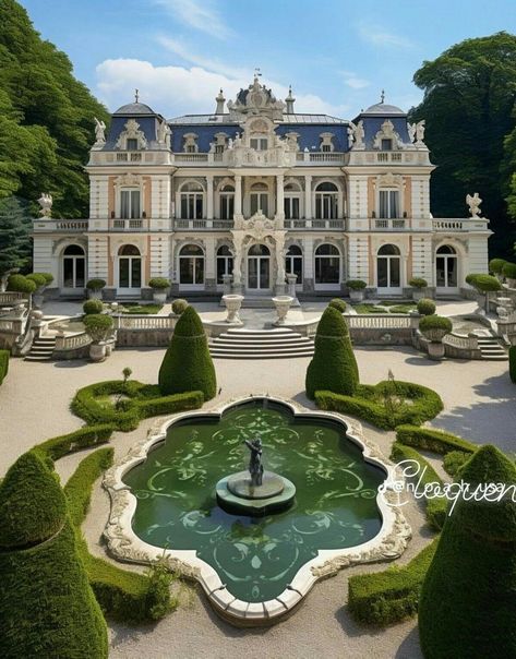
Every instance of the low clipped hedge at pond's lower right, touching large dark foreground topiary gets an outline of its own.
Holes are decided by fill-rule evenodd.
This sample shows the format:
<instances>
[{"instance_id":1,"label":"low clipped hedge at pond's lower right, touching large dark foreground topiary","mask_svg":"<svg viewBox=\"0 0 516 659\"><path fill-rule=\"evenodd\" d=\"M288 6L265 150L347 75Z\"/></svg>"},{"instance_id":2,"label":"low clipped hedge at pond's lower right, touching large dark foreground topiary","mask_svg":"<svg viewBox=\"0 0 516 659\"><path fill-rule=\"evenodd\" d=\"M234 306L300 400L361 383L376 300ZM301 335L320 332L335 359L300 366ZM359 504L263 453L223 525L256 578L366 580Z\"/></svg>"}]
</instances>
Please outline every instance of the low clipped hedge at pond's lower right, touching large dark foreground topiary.
<instances>
[{"instance_id":1,"label":"low clipped hedge at pond's lower right, touching large dark foreground topiary","mask_svg":"<svg viewBox=\"0 0 516 659\"><path fill-rule=\"evenodd\" d=\"M437 539L403 567L393 566L384 572L350 577L348 606L355 620L384 626L415 615L436 546Z\"/></svg>"}]
</instances>

